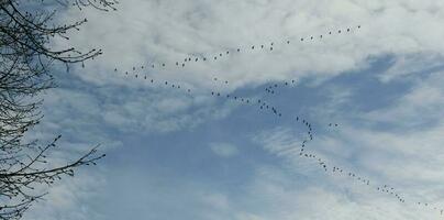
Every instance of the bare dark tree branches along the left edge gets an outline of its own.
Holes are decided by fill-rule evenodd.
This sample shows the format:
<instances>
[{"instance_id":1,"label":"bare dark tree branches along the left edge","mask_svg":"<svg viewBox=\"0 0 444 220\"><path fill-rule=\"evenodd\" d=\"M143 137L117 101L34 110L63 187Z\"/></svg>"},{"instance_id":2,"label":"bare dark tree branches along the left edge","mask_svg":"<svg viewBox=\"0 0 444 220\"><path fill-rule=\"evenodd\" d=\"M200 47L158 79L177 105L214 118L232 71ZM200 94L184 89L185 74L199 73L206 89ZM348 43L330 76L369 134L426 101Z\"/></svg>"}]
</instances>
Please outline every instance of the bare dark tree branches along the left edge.
<instances>
[{"instance_id":1,"label":"bare dark tree branches along the left edge","mask_svg":"<svg viewBox=\"0 0 444 220\"><path fill-rule=\"evenodd\" d=\"M46 157L56 146L57 136L49 144L25 141L24 134L37 124L43 114L38 95L53 88L51 67L93 58L100 50L80 52L75 47L52 50L56 37L69 41L67 34L78 31L87 20L57 24L57 10L93 7L115 10L114 0L0 0L0 219L20 219L29 207L41 199L38 188L51 186L75 168L96 164L99 155L93 147L85 155L56 166ZM49 11L52 10L52 11Z\"/></svg>"}]
</instances>

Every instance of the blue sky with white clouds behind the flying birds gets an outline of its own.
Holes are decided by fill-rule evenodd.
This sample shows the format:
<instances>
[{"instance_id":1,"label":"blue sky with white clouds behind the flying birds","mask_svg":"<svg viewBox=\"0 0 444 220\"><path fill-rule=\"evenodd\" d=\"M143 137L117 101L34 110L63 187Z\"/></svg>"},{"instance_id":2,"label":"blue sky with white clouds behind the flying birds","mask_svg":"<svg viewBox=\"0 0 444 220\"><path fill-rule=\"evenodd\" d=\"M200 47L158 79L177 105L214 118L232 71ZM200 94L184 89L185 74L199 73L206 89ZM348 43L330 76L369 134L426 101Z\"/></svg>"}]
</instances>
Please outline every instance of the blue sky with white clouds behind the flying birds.
<instances>
[{"instance_id":1,"label":"blue sky with white clouds behind the flying birds","mask_svg":"<svg viewBox=\"0 0 444 220\"><path fill-rule=\"evenodd\" d=\"M443 1L125 0L57 21L84 18L53 46L103 55L54 67L29 138L107 157L24 219L444 218Z\"/></svg>"}]
</instances>

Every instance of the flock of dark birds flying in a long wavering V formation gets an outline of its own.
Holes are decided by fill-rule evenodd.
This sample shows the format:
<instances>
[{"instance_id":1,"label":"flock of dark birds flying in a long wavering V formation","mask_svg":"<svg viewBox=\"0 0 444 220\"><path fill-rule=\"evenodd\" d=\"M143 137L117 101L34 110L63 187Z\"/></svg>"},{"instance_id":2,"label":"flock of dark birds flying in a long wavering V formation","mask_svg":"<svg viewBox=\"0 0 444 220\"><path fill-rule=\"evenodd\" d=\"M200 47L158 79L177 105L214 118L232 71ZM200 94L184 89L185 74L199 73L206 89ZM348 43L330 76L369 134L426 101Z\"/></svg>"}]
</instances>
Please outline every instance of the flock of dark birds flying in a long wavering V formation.
<instances>
[{"instance_id":1,"label":"flock of dark birds flying in a long wavering V formation","mask_svg":"<svg viewBox=\"0 0 444 220\"><path fill-rule=\"evenodd\" d=\"M360 25L357 26L357 29L360 29ZM341 33L349 33L352 32L353 29L348 28L345 31L342 30L337 30L337 34ZM332 35L333 32L328 32L326 35ZM325 38L326 35L319 35L318 38L322 40ZM307 38L301 37L299 38L300 42L304 42L304 41L314 41L317 37L315 36L309 36ZM291 44L292 42L290 40L285 41L285 43L287 45ZM269 43L268 46L264 45L264 44L259 44L259 45L252 45L251 47L248 47L247 50L265 50L268 48L269 51L274 51L276 50L276 44L274 42ZM222 56L229 56L233 53L241 53L242 51L244 51L241 47L237 47L234 52L232 51L226 51L224 53L219 53L215 56L200 56L200 57L186 57L182 61L178 61L174 63L174 66L176 67L185 67L187 63L191 63L191 62L210 62L210 61L218 61L218 58L222 57ZM166 63L160 63L160 64L151 64L151 67L156 69L157 68L165 68L166 66L168 66L168 64ZM182 92L186 92L188 95L193 94L193 91L191 90L191 88L185 88L185 86L182 86L181 84L178 82L174 82L174 81L169 81L169 80L162 80L162 79L155 79L154 77L148 77L146 74L144 74L146 69L146 66L141 66L140 68L137 67L133 67L132 70L133 72L120 72L118 68L114 68L115 73L120 73L123 76L126 77L134 77L136 79L141 79L141 80L146 80L153 85L156 86L164 86L166 88L169 89L176 89L176 90L180 90ZM218 77L214 77L212 80L221 82L222 85L229 85L230 81L229 80L224 80L224 79L220 79ZM265 92L267 94L271 94L275 95L276 90L278 88L281 87L290 87L290 86L296 86L297 85L297 80L296 79L291 79L291 80L287 80L284 82L279 82L279 84L273 84L270 86L266 86L265 88ZM248 97L243 97L243 96L238 96L236 94L223 94L221 91L217 91L217 90L212 90L210 91L210 94L208 94L209 96L211 95L214 98L220 98L220 99L225 99L225 100L231 100L241 105L249 105L249 106L255 106L257 107L257 109L262 112L268 112L277 118L281 118L282 117L282 112L273 103L270 103L269 101L265 100L264 98L248 98ZM399 202L406 204L406 202L410 202L412 205L415 206L420 206L420 207L428 207L431 208L435 211L439 211L441 213L441 216L444 215L444 209L442 208L437 208L434 206L429 205L428 202L420 202L420 201L409 201L404 198L404 196L401 195L401 193L399 193L395 187L389 186L389 185L377 185L374 184L373 182L370 182L369 178L364 177L358 175L357 173L354 172L349 172L346 170L343 167L340 166L335 166L335 165L331 165L328 163L326 160L323 160L322 157L318 156L315 153L310 153L307 150L307 145L309 144L309 142L313 141L314 139L314 130L312 124L303 117L301 116L296 116L292 117L292 120L296 123L300 123L302 127L304 127L307 130L304 132L304 139L302 140L302 142L299 145L299 148L295 152L297 152L299 154L300 157L302 158L307 158L307 160L311 160L312 162L314 162L313 164L317 164L321 169L323 169L323 172L329 173L331 175L337 175L337 176L344 176L353 182L356 182L358 184L360 184L364 187L368 187L370 189L374 189L378 193L388 195L390 197L392 197L393 199L398 200ZM337 123L329 123L328 127L331 128L337 128L338 124Z\"/></svg>"}]
</instances>

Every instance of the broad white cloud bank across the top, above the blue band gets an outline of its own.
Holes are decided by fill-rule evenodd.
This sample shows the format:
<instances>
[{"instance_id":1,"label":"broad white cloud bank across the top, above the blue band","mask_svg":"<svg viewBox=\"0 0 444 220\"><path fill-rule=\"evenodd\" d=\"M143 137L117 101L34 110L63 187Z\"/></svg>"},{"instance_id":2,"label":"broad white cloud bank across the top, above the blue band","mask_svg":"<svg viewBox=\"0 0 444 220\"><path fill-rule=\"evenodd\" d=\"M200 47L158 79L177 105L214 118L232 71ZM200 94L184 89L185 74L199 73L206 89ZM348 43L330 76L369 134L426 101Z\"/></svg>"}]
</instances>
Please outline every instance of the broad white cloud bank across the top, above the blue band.
<instances>
[{"instance_id":1,"label":"broad white cloud bank across the top, above the blue band","mask_svg":"<svg viewBox=\"0 0 444 220\"><path fill-rule=\"evenodd\" d=\"M140 1L121 2L119 11L102 13L87 10L90 23L71 37L81 47L98 45L104 55L80 76L96 84L122 84L112 69L166 63L165 70L144 70L149 76L184 81L198 88L211 88L218 75L232 84L227 88L257 85L303 76L335 76L366 66L370 56L415 53L442 54L443 3L413 1ZM242 11L242 13L238 13ZM82 16L70 10L65 19ZM81 14L81 15L80 15ZM235 21L235 22L233 22ZM313 43L300 43L301 36L355 28L342 36L326 36ZM286 44L287 38L292 44ZM251 52L219 58L218 62L176 61L206 54L218 55L241 46L275 42L275 52ZM233 53L233 51L232 51ZM173 66L171 66L173 65ZM134 86L146 86L135 82Z\"/></svg>"}]
</instances>

